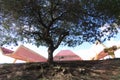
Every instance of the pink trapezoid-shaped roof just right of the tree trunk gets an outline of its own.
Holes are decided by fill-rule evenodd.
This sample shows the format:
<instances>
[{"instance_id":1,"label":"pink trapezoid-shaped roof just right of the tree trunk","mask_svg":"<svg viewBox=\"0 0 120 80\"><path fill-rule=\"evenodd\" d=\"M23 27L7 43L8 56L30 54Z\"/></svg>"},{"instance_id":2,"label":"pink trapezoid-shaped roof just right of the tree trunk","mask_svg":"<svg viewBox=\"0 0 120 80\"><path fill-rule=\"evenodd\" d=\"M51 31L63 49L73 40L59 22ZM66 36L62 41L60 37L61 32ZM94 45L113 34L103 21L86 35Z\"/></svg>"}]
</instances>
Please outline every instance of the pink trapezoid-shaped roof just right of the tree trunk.
<instances>
[{"instance_id":1,"label":"pink trapezoid-shaped roof just right of the tree trunk","mask_svg":"<svg viewBox=\"0 0 120 80\"><path fill-rule=\"evenodd\" d=\"M70 50L61 50L55 57L54 61L75 61L82 60L78 55Z\"/></svg>"}]
</instances>

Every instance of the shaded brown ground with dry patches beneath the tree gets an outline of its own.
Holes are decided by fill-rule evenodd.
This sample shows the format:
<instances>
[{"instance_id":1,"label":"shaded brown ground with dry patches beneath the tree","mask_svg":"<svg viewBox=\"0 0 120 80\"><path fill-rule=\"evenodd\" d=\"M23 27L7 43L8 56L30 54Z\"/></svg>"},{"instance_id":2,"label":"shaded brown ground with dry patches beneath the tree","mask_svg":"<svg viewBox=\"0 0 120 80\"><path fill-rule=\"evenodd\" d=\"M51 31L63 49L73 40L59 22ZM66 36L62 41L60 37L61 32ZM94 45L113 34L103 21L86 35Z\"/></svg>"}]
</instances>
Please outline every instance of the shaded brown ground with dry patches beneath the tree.
<instances>
[{"instance_id":1,"label":"shaded brown ground with dry patches beneath the tree","mask_svg":"<svg viewBox=\"0 0 120 80\"><path fill-rule=\"evenodd\" d=\"M0 80L120 80L120 59L0 64Z\"/></svg>"}]
</instances>

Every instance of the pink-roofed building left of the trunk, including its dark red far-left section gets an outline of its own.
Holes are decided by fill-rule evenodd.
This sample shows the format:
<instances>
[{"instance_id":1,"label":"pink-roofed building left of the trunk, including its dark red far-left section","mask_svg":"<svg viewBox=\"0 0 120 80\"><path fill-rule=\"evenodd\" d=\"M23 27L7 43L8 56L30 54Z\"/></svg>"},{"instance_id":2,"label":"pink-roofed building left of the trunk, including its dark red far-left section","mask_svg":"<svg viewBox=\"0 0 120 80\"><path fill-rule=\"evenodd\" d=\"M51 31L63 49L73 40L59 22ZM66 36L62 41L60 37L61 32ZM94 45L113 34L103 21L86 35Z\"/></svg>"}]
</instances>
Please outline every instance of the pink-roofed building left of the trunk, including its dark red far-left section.
<instances>
[{"instance_id":1,"label":"pink-roofed building left of the trunk, including its dark red far-left section","mask_svg":"<svg viewBox=\"0 0 120 80\"><path fill-rule=\"evenodd\" d=\"M40 54L26 48L25 46L21 45L18 47L16 51L12 51L6 48L1 48L2 53L5 56L9 56L14 58L14 63L17 60L22 60L25 62L47 62L47 59L41 56Z\"/></svg>"}]
</instances>

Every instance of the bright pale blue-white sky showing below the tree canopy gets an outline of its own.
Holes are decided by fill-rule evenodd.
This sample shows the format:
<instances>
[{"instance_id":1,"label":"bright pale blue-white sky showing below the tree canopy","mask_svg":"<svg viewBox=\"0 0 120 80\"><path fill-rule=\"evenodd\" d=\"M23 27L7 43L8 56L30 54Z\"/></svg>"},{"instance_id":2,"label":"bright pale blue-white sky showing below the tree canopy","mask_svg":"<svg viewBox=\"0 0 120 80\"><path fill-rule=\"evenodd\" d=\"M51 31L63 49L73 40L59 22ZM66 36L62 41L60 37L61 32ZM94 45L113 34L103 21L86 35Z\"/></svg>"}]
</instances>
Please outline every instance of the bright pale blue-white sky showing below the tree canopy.
<instances>
[{"instance_id":1,"label":"bright pale blue-white sky showing below the tree canopy","mask_svg":"<svg viewBox=\"0 0 120 80\"><path fill-rule=\"evenodd\" d=\"M115 38L111 38L110 41L105 41L103 44L105 44L107 47L110 47L112 45L120 46L120 31ZM24 44L24 46L39 53L40 55L46 58L48 57L47 47L45 46L40 46L39 48L31 44ZM13 47L13 48L14 50L16 50L18 47L15 47L15 48ZM79 55L82 59L89 60L92 57L94 57L96 53L99 53L101 50L103 50L103 47L101 45L96 46L95 44L88 43L88 42L84 42L80 46L76 46L76 47L59 46L59 48L54 51L54 56L61 50L71 50L75 54ZM120 50L117 50L115 52L115 55L116 57L120 57Z\"/></svg>"}]
</instances>

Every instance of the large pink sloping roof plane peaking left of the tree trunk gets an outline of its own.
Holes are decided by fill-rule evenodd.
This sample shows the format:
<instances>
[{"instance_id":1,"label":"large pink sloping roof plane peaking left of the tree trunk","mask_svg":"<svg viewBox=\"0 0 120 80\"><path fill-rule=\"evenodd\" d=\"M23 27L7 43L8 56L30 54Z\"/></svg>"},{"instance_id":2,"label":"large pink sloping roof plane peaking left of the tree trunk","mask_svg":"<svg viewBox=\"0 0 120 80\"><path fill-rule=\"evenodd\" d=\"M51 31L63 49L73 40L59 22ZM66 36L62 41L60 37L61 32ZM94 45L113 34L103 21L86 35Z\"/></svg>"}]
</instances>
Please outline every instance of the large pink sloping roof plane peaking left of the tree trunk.
<instances>
[{"instance_id":1,"label":"large pink sloping roof plane peaking left of the tree trunk","mask_svg":"<svg viewBox=\"0 0 120 80\"><path fill-rule=\"evenodd\" d=\"M16 58L16 59L28 61L28 62L46 62L47 61L46 58L26 48L23 45L21 45L14 53L12 53L9 56L12 58Z\"/></svg>"}]
</instances>

